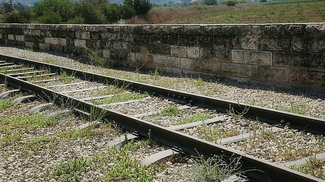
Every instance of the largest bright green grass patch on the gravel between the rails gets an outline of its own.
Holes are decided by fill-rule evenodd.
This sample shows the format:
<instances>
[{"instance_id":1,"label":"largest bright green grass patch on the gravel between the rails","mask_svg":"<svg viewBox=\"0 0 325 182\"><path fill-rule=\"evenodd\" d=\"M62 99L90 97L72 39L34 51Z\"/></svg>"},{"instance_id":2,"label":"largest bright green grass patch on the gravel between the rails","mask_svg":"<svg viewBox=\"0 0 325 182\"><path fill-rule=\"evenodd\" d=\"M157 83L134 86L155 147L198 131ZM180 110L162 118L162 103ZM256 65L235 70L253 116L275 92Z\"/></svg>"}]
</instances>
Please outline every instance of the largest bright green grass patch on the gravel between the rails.
<instances>
[{"instance_id":1,"label":"largest bright green grass patch on the gravel between the rails","mask_svg":"<svg viewBox=\"0 0 325 182\"><path fill-rule=\"evenodd\" d=\"M137 99L143 99L148 97L148 94L140 94L140 93L121 93L117 94L113 98L105 98L100 101L92 101L94 104L111 104L111 103L118 103L123 101L129 101L129 100L137 100Z\"/></svg>"}]
</instances>

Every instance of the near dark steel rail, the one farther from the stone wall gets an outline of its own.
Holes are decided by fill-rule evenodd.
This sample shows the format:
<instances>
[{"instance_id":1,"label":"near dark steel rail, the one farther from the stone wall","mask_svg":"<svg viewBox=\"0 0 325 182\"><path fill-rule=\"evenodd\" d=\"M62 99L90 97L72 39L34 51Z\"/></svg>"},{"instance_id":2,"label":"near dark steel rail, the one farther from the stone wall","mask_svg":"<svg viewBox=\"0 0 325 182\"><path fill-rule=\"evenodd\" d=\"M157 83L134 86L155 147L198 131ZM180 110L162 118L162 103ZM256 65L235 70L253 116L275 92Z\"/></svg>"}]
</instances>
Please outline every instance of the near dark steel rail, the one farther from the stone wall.
<instances>
[{"instance_id":1,"label":"near dark steel rail, the one farther from the stone wall","mask_svg":"<svg viewBox=\"0 0 325 182\"><path fill-rule=\"evenodd\" d=\"M273 164L271 162L244 154L239 151L228 149L221 145L207 142L198 138L194 138L188 134L181 133L163 126L159 126L148 121L128 116L117 111L96 107L93 104L86 103L82 100L71 98L67 95L54 92L43 86L39 86L27 81L0 73L0 81L7 81L7 84L19 87L21 90L34 94L44 100L54 101L55 103L69 103L69 106L90 112L91 109L106 111L107 115L103 118L107 121L114 122L118 126L130 131L136 131L140 135L151 137L158 142L168 146L176 146L183 152L191 155L226 155L233 157L241 157L242 170L246 170L245 175L257 179L259 181L323 181L319 178Z\"/></svg>"}]
</instances>

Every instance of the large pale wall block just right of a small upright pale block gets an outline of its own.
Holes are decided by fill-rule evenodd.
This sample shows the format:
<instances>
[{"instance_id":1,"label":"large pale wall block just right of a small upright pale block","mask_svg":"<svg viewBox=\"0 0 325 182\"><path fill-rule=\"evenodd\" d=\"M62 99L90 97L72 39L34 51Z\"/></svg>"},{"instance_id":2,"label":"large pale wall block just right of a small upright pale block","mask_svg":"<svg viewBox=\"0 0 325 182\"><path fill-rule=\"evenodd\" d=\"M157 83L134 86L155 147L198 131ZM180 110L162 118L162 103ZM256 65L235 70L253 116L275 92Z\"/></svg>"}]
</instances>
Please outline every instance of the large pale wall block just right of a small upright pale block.
<instances>
[{"instance_id":1,"label":"large pale wall block just right of a small upright pale block","mask_svg":"<svg viewBox=\"0 0 325 182\"><path fill-rule=\"evenodd\" d=\"M272 53L265 51L245 51L245 63L272 65Z\"/></svg>"}]
</instances>

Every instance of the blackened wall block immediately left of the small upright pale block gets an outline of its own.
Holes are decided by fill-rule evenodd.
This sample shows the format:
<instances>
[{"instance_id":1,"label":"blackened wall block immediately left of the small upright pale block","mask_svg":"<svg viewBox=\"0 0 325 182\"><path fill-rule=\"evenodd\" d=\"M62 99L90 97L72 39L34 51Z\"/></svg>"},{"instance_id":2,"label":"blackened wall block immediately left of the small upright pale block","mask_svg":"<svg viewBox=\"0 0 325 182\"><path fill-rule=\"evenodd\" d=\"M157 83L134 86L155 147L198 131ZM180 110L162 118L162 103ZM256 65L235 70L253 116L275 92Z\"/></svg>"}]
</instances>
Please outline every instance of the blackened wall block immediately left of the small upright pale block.
<instances>
[{"instance_id":1,"label":"blackened wall block immediately left of the small upright pale block","mask_svg":"<svg viewBox=\"0 0 325 182\"><path fill-rule=\"evenodd\" d=\"M230 62L230 51L210 49L210 48L200 48L200 58L221 61L221 62Z\"/></svg>"}]
</instances>

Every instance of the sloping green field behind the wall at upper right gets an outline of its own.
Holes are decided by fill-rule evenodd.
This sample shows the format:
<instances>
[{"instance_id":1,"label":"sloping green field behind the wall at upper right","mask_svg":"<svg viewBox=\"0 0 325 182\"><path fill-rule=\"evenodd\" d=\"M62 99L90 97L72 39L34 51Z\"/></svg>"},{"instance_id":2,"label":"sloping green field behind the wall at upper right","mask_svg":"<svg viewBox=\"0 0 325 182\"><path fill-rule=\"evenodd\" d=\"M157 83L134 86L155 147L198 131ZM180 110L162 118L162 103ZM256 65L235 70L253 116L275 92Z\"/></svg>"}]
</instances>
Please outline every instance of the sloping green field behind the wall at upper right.
<instances>
[{"instance_id":1,"label":"sloping green field behind the wall at upper right","mask_svg":"<svg viewBox=\"0 0 325 182\"><path fill-rule=\"evenodd\" d=\"M325 22L325 2L315 0L277 1L259 6L235 7L228 11L193 15L188 18L173 20L169 23L224 24L298 22Z\"/></svg>"}]
</instances>

